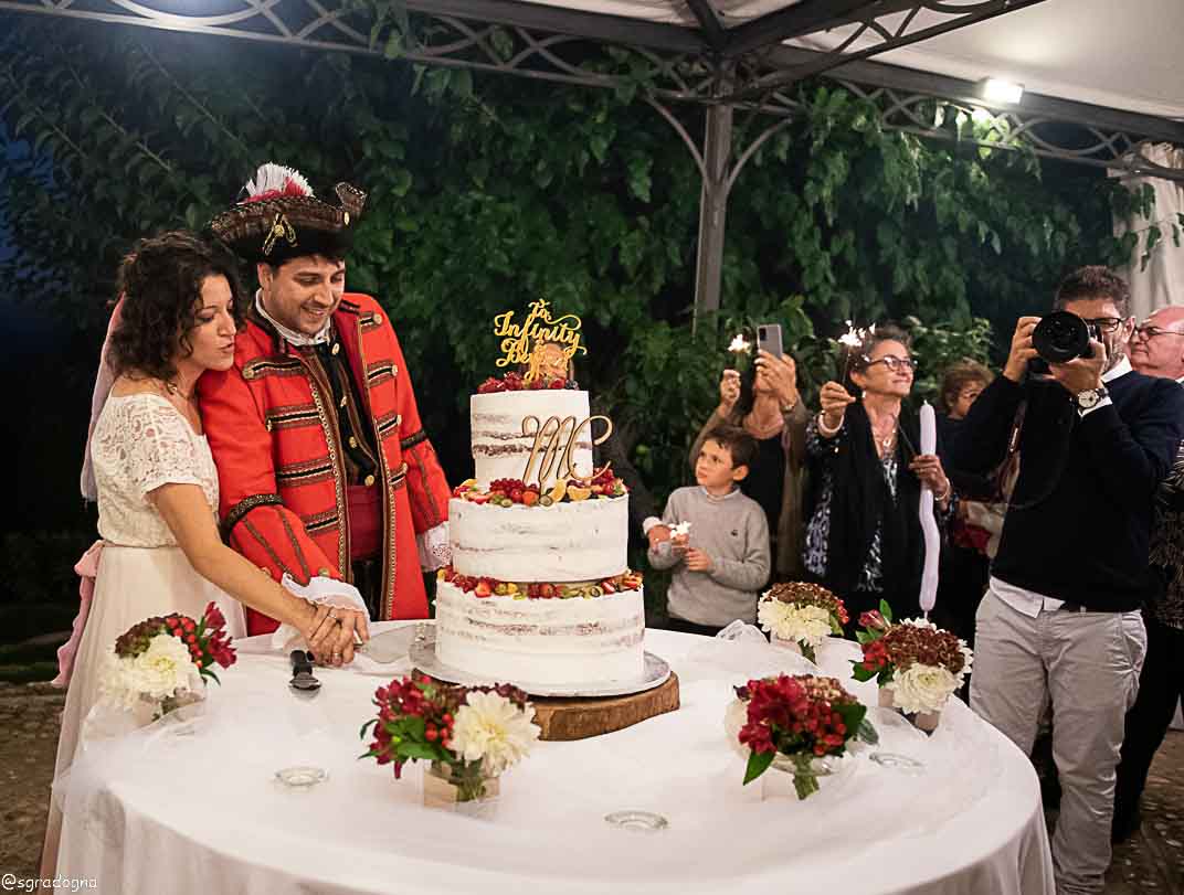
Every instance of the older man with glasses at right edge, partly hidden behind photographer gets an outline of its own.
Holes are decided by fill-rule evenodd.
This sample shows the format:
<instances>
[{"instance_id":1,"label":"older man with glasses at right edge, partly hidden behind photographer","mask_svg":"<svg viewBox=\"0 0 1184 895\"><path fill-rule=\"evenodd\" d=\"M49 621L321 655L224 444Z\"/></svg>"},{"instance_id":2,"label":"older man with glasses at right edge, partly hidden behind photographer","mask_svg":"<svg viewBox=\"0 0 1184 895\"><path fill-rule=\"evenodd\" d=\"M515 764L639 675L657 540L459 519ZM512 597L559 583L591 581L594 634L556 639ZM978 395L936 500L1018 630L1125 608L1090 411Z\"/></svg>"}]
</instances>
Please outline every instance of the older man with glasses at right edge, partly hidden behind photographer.
<instances>
[{"instance_id":1,"label":"older man with glasses at right edge, partly hidden behind photographer","mask_svg":"<svg viewBox=\"0 0 1184 895\"><path fill-rule=\"evenodd\" d=\"M1145 376L1184 383L1184 307L1162 307L1135 329L1131 363ZM1184 696L1178 656L1184 655L1184 446L1156 497L1151 564L1163 575L1163 590L1147 598L1147 657L1139 675L1139 698L1126 716L1122 760L1114 787L1113 839L1127 839L1143 817L1139 799L1151 761Z\"/></svg>"}]
</instances>

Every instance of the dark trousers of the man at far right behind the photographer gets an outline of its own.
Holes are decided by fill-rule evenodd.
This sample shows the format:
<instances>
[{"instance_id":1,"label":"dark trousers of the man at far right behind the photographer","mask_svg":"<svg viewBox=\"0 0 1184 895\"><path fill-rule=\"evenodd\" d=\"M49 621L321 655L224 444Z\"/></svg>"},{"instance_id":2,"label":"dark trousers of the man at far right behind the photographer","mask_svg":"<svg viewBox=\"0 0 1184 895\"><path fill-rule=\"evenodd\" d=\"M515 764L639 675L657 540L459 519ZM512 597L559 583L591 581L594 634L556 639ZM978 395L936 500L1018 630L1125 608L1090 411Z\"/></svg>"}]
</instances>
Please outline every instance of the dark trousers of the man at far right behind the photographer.
<instances>
[{"instance_id":1,"label":"dark trousers of the man at far right behind the photographer","mask_svg":"<svg viewBox=\"0 0 1184 895\"><path fill-rule=\"evenodd\" d=\"M1151 760L1184 695L1184 676L1178 667L1184 654L1184 630L1158 622L1146 612L1143 621L1147 625L1147 657L1139 675L1139 695L1126 713L1126 739L1114 786L1115 826L1134 817L1147 785Z\"/></svg>"}]
</instances>

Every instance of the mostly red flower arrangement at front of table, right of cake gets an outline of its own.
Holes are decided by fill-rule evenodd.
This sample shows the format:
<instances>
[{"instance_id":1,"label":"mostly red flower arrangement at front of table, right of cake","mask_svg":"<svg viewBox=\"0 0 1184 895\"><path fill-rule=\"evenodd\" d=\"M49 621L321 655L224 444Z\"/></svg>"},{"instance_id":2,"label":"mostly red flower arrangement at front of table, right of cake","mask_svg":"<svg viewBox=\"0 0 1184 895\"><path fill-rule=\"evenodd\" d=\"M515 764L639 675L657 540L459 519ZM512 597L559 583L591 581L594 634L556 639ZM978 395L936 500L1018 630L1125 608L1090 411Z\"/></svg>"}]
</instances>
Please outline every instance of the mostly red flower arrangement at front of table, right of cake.
<instances>
[{"instance_id":1,"label":"mostly red flower arrangement at front of table, right of cake","mask_svg":"<svg viewBox=\"0 0 1184 895\"><path fill-rule=\"evenodd\" d=\"M855 737L879 740L864 716L867 707L835 677L781 674L748 681L735 693L744 712L735 739L748 751L745 784L784 757L792 766L793 789L804 799L818 791L815 759L843 755Z\"/></svg>"}]
</instances>

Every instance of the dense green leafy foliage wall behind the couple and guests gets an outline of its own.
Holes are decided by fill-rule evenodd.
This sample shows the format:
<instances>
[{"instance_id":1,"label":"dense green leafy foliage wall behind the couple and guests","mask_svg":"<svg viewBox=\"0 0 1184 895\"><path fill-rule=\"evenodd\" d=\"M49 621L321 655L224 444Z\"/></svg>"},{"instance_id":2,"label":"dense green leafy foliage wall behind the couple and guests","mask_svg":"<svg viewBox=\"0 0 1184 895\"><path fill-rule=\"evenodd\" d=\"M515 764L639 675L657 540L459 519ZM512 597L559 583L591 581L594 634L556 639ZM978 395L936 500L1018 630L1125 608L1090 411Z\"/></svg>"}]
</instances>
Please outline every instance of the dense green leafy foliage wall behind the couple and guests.
<instances>
[{"instance_id":1,"label":"dense green leafy foliage wall behind the couple and guests","mask_svg":"<svg viewBox=\"0 0 1184 895\"><path fill-rule=\"evenodd\" d=\"M644 56L586 60L618 79L616 92L429 69L407 52L455 32L432 31L403 4L350 1L373 14L382 56L260 46L229 66L193 38L22 24L31 38L0 67L0 90L15 97L6 123L52 155L53 177L8 177L0 210L26 262L59 272L24 292L83 320L97 344L118 259L137 236L200 227L263 158L304 169L322 193L355 182L369 200L349 285L398 322L450 474L470 462L457 423L491 372L489 320L541 296L584 314L592 354L580 381L661 499L688 476L723 343L742 322L781 324L810 403L835 375L829 339L843 320L915 317L916 391L932 395L944 364L990 356L991 327L978 318L1010 332L1068 265L1166 251L1169 226L1180 240L1184 218L1160 222L1153 240L1111 235L1111 190L1115 208L1150 213L1146 189L1058 169L1041 182L1031 156L979 158L888 132L870 102L806 83L803 115L735 182L722 307L691 338L701 184L682 141L638 100L655 85ZM485 40L502 59L516 41L503 28ZM701 110L675 111L702 132ZM932 112L935 127L954 127L952 110ZM762 127L738 132L751 140ZM963 128L970 136L979 124ZM746 145L738 138L734 154Z\"/></svg>"}]
</instances>

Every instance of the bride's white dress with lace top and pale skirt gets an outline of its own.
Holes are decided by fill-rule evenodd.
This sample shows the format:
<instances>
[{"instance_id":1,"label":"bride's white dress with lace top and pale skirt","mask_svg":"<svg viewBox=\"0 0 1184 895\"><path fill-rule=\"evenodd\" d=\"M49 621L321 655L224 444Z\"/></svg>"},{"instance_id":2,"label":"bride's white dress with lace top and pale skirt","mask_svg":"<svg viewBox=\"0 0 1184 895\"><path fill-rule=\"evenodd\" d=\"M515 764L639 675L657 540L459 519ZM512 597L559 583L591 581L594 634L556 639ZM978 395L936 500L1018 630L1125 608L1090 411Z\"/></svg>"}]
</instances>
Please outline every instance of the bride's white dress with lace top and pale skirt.
<instances>
[{"instance_id":1,"label":"bride's white dress with lace top and pale skirt","mask_svg":"<svg viewBox=\"0 0 1184 895\"><path fill-rule=\"evenodd\" d=\"M147 494L168 484L199 485L217 523L218 471L205 435L159 395L111 395L91 439L103 552L62 714L54 778L73 761L99 696L105 654L128 628L152 616L200 618L212 601L226 631L246 631L242 604L198 575Z\"/></svg>"}]
</instances>

